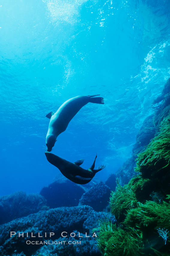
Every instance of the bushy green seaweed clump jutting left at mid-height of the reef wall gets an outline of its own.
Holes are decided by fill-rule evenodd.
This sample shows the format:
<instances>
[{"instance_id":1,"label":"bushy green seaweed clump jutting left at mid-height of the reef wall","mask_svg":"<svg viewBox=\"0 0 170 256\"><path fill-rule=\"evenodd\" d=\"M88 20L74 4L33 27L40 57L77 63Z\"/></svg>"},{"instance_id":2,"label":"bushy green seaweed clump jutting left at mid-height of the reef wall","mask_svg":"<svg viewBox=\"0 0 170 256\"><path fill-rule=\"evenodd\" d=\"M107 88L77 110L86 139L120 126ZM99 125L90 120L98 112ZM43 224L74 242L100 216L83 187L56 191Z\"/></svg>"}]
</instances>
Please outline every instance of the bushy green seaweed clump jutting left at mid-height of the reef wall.
<instances>
[{"instance_id":1,"label":"bushy green seaweed clump jutting left at mid-height of the reef wall","mask_svg":"<svg viewBox=\"0 0 170 256\"><path fill-rule=\"evenodd\" d=\"M111 193L110 206L111 212L115 215L119 222L125 219L127 210L136 207L137 199L133 190L129 189L127 185L122 187L119 183L116 191Z\"/></svg>"}]
</instances>

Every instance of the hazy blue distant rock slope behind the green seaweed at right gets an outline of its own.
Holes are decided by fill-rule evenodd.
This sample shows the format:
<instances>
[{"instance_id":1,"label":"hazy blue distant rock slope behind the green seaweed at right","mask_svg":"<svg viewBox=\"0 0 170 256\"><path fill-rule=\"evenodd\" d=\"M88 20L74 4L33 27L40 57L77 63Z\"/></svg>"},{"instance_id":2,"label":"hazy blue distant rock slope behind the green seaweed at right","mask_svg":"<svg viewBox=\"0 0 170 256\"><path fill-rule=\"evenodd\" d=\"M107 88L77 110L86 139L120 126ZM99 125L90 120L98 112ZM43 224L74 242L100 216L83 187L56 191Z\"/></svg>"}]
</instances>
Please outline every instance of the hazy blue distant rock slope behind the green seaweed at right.
<instances>
[{"instance_id":1,"label":"hazy blue distant rock slope behind the green seaweed at right","mask_svg":"<svg viewBox=\"0 0 170 256\"><path fill-rule=\"evenodd\" d=\"M132 156L122 167L116 172L121 186L127 184L130 179L136 175L134 168L136 167L136 158L139 153L143 152L146 146L151 142L154 136L160 132L161 122L169 115L170 96L170 80L164 86L161 95L153 102L152 108L154 114L148 116L136 136L136 143L133 146Z\"/></svg>"}]
</instances>

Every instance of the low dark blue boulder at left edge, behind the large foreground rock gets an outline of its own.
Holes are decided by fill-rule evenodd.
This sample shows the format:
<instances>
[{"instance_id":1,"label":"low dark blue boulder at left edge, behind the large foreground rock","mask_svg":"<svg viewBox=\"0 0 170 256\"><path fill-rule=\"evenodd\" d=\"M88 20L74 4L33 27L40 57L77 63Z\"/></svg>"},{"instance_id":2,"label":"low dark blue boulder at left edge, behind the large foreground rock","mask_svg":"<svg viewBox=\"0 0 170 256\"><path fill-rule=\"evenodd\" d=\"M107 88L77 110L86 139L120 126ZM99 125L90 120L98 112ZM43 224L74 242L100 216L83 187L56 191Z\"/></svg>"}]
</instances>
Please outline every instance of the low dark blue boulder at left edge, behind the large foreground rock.
<instances>
[{"instance_id":1,"label":"low dark blue boulder at left edge, behind the large foreground rock","mask_svg":"<svg viewBox=\"0 0 170 256\"><path fill-rule=\"evenodd\" d=\"M47 209L46 200L39 194L19 191L0 197L0 224Z\"/></svg>"}]
</instances>

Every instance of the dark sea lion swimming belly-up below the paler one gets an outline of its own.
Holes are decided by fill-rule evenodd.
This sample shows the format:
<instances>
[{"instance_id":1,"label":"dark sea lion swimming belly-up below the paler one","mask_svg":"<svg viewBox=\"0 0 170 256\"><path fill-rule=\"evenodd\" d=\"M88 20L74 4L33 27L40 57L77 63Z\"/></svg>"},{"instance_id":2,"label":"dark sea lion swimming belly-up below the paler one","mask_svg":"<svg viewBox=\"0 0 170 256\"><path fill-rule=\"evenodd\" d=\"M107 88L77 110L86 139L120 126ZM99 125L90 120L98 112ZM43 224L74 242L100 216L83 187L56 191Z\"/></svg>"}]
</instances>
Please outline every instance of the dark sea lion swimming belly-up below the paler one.
<instances>
[{"instance_id":1,"label":"dark sea lion swimming belly-up below the paler one","mask_svg":"<svg viewBox=\"0 0 170 256\"><path fill-rule=\"evenodd\" d=\"M49 152L45 152L45 155L50 164L56 166L67 179L77 184L86 184L90 182L97 172L106 167L105 165L101 165L96 170L94 170L97 154L92 166L88 170L80 167L84 159L71 163Z\"/></svg>"}]
</instances>

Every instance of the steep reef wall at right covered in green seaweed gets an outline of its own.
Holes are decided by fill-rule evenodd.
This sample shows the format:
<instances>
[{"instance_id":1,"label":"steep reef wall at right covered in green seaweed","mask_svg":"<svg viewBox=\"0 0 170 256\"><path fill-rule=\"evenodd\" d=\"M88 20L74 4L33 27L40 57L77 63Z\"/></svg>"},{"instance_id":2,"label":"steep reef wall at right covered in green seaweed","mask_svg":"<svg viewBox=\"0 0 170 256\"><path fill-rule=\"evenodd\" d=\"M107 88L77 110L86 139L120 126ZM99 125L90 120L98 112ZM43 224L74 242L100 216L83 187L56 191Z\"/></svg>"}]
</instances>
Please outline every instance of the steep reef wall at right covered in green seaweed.
<instances>
[{"instance_id":1,"label":"steep reef wall at right covered in green seaweed","mask_svg":"<svg viewBox=\"0 0 170 256\"><path fill-rule=\"evenodd\" d=\"M142 143L139 134L134 146L135 176L124 186L120 179L111 194L111 213L117 224L100 222L97 243L102 255L170 255L170 80L154 108L142 128L146 140Z\"/></svg>"}]
</instances>

